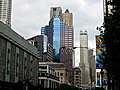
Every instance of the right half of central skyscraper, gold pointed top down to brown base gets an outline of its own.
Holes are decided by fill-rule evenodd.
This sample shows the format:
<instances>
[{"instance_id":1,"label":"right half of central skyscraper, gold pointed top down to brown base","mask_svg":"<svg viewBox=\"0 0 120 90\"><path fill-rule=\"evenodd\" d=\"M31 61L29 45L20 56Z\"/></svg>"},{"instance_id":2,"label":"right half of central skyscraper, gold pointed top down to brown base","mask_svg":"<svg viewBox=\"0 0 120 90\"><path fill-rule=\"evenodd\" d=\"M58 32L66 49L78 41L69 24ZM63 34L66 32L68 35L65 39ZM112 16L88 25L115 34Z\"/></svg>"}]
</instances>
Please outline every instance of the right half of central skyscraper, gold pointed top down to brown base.
<instances>
[{"instance_id":1,"label":"right half of central skyscraper, gold pointed top down to brown base","mask_svg":"<svg viewBox=\"0 0 120 90\"><path fill-rule=\"evenodd\" d=\"M60 62L66 65L68 70L69 82L73 83L73 66L74 66L74 30L73 30L73 18L72 13L69 13L67 9L65 13L62 14L62 19L64 22L64 29L61 30L61 49L60 49ZM64 48L62 48L64 47Z\"/></svg>"}]
</instances>

